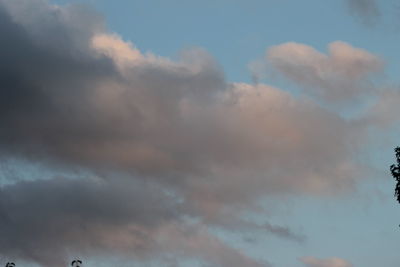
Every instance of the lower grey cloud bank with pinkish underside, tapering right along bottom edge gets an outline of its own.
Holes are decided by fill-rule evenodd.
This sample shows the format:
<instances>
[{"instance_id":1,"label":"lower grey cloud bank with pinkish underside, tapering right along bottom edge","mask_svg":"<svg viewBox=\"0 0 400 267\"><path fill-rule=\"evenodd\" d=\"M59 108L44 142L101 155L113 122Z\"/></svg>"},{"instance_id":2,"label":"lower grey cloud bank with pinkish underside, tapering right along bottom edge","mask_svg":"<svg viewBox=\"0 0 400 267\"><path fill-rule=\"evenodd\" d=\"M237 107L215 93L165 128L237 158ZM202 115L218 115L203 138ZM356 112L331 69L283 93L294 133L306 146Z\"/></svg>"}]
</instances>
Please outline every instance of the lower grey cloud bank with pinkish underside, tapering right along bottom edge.
<instances>
[{"instance_id":1,"label":"lower grey cloud bank with pinkish underside, tapering right along bottom edge","mask_svg":"<svg viewBox=\"0 0 400 267\"><path fill-rule=\"evenodd\" d=\"M43 266L66 254L108 253L138 260L171 253L213 266L268 266L226 246L201 225L185 225L165 188L132 179L36 180L0 191L0 249Z\"/></svg>"}]
</instances>

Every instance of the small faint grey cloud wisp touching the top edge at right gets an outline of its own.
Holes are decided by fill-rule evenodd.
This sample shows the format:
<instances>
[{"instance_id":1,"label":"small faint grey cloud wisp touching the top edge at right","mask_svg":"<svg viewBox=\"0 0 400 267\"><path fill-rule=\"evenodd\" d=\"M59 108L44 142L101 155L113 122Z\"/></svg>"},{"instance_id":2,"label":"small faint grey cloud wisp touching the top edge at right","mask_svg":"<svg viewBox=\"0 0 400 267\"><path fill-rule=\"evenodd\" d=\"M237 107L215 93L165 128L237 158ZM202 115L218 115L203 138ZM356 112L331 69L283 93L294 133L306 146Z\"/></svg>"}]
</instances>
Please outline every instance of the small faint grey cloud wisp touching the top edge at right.
<instances>
[{"instance_id":1,"label":"small faint grey cloud wisp touching the top edge at right","mask_svg":"<svg viewBox=\"0 0 400 267\"><path fill-rule=\"evenodd\" d=\"M349 12L357 16L365 25L374 25L381 15L376 0L346 0L346 2Z\"/></svg>"}]
</instances>

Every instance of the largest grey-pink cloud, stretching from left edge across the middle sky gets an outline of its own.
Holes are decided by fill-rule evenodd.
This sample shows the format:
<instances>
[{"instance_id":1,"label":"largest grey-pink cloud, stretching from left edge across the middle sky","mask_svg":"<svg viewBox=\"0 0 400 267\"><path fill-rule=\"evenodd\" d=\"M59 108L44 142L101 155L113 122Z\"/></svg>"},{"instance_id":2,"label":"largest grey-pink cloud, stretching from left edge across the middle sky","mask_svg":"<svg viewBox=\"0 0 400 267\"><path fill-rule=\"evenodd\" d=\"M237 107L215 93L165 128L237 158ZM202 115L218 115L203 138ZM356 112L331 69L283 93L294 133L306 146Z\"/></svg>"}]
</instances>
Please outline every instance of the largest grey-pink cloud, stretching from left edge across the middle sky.
<instances>
[{"instance_id":1,"label":"largest grey-pink cloud, stretching from left edge across the middle sky","mask_svg":"<svg viewBox=\"0 0 400 267\"><path fill-rule=\"evenodd\" d=\"M2 56L13 55L2 63L3 153L167 176L186 189L226 190L225 198L242 194L234 187L243 176L250 191L316 193L330 190L333 176L343 177L337 186L353 176L348 143L358 129L280 89L225 82L202 50L178 62L134 50L126 60L142 62L120 71L116 58L126 52L118 56L115 35L101 33L108 43L95 47L97 33L70 42L66 53L42 49L11 18L2 27L12 29Z\"/></svg>"}]
</instances>

